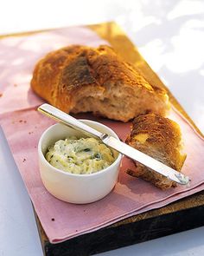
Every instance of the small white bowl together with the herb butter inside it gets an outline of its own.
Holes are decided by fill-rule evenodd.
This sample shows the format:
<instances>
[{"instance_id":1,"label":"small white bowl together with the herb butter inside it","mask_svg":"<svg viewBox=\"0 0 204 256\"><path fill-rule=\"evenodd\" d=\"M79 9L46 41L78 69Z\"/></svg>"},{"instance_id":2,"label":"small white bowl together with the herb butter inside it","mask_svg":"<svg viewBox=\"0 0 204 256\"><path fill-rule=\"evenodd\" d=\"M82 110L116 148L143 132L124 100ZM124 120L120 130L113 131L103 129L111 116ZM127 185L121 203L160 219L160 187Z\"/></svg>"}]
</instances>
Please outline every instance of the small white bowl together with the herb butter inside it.
<instances>
[{"instance_id":1,"label":"small white bowl together with the herb butter inside it","mask_svg":"<svg viewBox=\"0 0 204 256\"><path fill-rule=\"evenodd\" d=\"M119 140L102 123L82 121ZM79 131L56 123L44 131L38 143L41 181L50 194L69 203L99 200L118 182L122 154L107 148L102 141L84 137Z\"/></svg>"}]
</instances>

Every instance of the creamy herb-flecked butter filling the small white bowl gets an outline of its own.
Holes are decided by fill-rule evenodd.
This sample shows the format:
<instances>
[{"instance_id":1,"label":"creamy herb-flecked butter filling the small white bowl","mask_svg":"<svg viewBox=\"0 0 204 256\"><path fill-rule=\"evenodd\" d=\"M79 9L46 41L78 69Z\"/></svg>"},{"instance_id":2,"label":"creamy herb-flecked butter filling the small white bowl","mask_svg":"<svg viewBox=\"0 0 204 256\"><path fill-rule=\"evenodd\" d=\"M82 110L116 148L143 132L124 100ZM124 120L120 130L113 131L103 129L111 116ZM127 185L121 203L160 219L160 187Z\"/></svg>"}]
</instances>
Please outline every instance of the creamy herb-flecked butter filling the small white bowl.
<instances>
[{"instance_id":1,"label":"creamy herb-flecked butter filling the small white bowl","mask_svg":"<svg viewBox=\"0 0 204 256\"><path fill-rule=\"evenodd\" d=\"M115 158L112 150L94 138L70 137L48 148L47 161L72 174L92 174L109 167Z\"/></svg>"}]
</instances>

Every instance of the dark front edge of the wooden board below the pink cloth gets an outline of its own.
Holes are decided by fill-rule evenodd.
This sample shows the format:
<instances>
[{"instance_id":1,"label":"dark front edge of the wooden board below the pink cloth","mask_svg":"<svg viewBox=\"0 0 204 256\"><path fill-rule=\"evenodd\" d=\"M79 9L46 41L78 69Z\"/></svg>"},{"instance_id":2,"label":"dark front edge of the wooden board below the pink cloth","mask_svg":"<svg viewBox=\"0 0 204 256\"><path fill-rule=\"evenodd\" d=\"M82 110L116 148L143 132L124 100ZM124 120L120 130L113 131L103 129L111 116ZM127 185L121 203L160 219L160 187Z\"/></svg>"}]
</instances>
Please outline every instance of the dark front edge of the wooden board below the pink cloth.
<instances>
[{"instance_id":1,"label":"dark front edge of the wooden board below the pink cloth","mask_svg":"<svg viewBox=\"0 0 204 256\"><path fill-rule=\"evenodd\" d=\"M37 223L44 255L85 256L203 226L203 215L204 193L200 193L60 244L50 244L38 219Z\"/></svg>"}]
</instances>

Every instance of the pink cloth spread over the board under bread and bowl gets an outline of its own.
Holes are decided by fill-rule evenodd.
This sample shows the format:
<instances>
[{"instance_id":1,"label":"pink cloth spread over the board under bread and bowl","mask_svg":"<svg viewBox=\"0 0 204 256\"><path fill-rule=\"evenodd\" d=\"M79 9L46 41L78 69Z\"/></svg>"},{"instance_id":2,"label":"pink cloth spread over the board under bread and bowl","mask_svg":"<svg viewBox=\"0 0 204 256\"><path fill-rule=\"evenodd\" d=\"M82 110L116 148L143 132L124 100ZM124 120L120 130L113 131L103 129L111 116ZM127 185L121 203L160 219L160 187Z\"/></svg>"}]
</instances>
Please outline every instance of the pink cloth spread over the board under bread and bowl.
<instances>
[{"instance_id":1,"label":"pink cloth spread over the board under bread and bowl","mask_svg":"<svg viewBox=\"0 0 204 256\"><path fill-rule=\"evenodd\" d=\"M57 200L48 193L41 182L37 144L41 133L54 121L36 111L36 106L42 101L29 89L29 81L39 57L69 43L98 45L105 42L91 30L82 27L0 41L0 94L3 94L0 98L0 123L41 225L52 243L92 232L137 213L163 207L204 188L204 140L173 110L170 117L182 128L188 154L182 172L192 179L189 187L178 186L161 191L148 182L125 174L124 171L134 168L134 165L124 158L118 184L102 200L74 205ZM123 140L130 131L130 123L99 119L92 115L77 117L100 121L116 131Z\"/></svg>"}]
</instances>

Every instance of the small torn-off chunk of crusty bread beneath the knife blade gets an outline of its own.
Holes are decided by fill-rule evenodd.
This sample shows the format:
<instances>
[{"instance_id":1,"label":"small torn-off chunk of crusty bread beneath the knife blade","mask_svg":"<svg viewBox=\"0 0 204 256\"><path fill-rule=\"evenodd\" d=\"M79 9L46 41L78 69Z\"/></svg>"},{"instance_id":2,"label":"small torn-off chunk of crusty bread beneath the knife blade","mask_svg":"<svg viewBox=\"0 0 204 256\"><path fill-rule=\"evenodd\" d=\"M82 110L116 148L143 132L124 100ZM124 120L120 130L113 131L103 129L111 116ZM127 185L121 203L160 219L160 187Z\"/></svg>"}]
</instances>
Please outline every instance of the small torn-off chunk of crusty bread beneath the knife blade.
<instances>
[{"instance_id":1,"label":"small torn-off chunk of crusty bread beneath the knife blade","mask_svg":"<svg viewBox=\"0 0 204 256\"><path fill-rule=\"evenodd\" d=\"M182 169L186 159L186 154L182 153L180 127L175 121L161 115L138 115L133 121L131 135L128 136L126 143L177 171ZM141 177L162 189L175 187L175 182L169 181L163 175L138 162L135 164L136 170L127 170L128 174Z\"/></svg>"}]
</instances>

